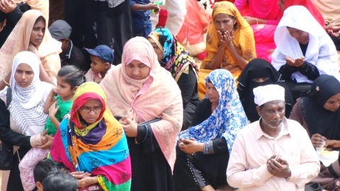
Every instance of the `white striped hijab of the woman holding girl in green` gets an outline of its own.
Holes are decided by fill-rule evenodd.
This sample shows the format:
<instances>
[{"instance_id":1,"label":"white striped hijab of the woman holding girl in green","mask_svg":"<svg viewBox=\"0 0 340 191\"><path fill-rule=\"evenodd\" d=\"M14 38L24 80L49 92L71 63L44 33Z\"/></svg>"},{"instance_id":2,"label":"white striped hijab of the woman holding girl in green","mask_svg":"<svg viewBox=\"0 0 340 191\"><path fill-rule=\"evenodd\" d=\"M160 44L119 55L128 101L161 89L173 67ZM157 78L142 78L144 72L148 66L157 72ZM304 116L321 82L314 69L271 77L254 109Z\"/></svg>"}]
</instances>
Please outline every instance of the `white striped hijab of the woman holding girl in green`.
<instances>
[{"instance_id":1,"label":"white striped hijab of the woman holding girl in green","mask_svg":"<svg viewBox=\"0 0 340 191\"><path fill-rule=\"evenodd\" d=\"M16 83L14 76L19 64L28 64L34 73L30 86L21 88ZM10 86L12 90L12 100L8 107L13 121L23 134L26 134L28 127L45 126L47 114L44 112L45 92L50 92L52 85L40 81L40 60L33 52L23 51L16 54L13 59Z\"/></svg>"}]
</instances>

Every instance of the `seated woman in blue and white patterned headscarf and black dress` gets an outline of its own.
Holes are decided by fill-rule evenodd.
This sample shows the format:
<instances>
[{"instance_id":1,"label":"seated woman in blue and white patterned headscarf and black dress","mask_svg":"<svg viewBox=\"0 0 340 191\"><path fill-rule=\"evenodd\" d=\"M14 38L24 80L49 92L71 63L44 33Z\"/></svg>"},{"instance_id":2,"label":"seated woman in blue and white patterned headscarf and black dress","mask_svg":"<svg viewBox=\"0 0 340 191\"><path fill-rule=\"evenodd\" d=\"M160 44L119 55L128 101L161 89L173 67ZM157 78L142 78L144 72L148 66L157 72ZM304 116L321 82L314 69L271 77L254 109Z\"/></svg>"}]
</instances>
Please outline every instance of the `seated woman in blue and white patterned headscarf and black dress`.
<instances>
[{"instance_id":1,"label":"seated woman in blue and white patterned headscarf and black dress","mask_svg":"<svg viewBox=\"0 0 340 191\"><path fill-rule=\"evenodd\" d=\"M176 190L213 190L227 184L229 153L246 124L232 74L212 71L207 96L196 108L192 127L179 134L174 168Z\"/></svg>"}]
</instances>

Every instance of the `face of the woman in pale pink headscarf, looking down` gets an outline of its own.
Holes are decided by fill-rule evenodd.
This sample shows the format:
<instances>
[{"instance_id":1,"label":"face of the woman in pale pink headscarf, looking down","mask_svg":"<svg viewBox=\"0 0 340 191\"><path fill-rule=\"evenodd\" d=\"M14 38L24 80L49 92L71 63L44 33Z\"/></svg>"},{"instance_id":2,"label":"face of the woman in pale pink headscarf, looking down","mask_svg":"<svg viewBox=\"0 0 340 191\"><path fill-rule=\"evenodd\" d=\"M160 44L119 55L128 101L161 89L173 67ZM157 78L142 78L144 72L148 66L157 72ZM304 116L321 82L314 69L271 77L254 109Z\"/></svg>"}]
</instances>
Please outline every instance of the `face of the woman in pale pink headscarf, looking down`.
<instances>
[{"instance_id":1,"label":"face of the woman in pale pink headscarf, looking down","mask_svg":"<svg viewBox=\"0 0 340 191\"><path fill-rule=\"evenodd\" d=\"M149 76L150 72L149 66L143 64L142 62L136 59L132 60L132 62L126 65L125 67L126 74L128 74L128 76L131 79L142 80Z\"/></svg>"}]
</instances>

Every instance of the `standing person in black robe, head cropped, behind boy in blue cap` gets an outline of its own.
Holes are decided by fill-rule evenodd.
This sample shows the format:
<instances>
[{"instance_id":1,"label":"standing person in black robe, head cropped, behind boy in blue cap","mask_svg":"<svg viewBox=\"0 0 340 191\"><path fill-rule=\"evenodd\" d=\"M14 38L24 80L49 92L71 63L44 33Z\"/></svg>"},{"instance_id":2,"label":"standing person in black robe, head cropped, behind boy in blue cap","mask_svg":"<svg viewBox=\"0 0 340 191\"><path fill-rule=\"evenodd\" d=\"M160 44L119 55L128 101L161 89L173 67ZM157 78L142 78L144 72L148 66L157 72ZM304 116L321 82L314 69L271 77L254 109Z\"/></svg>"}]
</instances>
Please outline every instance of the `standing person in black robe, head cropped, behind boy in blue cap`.
<instances>
[{"instance_id":1,"label":"standing person in black robe, head cropped, behind boy in blue cap","mask_svg":"<svg viewBox=\"0 0 340 191\"><path fill-rule=\"evenodd\" d=\"M133 37L129 0L65 1L64 20L72 26L74 45L107 45L115 52L113 64L122 63L125 42Z\"/></svg>"}]
</instances>

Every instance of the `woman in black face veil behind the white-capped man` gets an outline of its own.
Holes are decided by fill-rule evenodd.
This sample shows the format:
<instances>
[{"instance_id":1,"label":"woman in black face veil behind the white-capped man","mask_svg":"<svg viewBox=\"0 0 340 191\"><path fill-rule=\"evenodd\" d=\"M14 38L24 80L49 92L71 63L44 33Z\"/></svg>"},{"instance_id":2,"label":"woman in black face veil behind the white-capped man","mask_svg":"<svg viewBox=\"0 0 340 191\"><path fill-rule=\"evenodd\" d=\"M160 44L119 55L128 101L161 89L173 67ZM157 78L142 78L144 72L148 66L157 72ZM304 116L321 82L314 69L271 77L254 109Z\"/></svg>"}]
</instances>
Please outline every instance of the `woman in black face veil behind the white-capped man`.
<instances>
[{"instance_id":1,"label":"woman in black face veil behind the white-capped man","mask_svg":"<svg viewBox=\"0 0 340 191\"><path fill-rule=\"evenodd\" d=\"M281 74L265 59L252 59L246 65L241 76L237 79L239 82L237 85L237 91L239 93L239 100L241 100L244 112L246 112L246 117L250 122L255 122L260 118L256 111L256 104L254 103L253 89L259 86L266 86L268 84L277 84L285 88L285 117L289 117L294 101L285 81L282 81L280 78Z\"/></svg>"}]
</instances>

